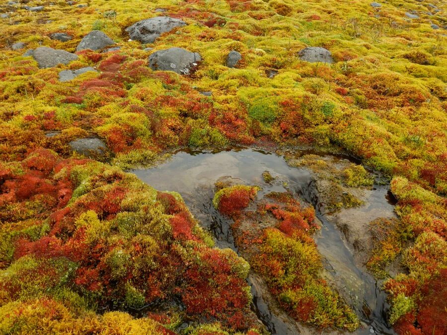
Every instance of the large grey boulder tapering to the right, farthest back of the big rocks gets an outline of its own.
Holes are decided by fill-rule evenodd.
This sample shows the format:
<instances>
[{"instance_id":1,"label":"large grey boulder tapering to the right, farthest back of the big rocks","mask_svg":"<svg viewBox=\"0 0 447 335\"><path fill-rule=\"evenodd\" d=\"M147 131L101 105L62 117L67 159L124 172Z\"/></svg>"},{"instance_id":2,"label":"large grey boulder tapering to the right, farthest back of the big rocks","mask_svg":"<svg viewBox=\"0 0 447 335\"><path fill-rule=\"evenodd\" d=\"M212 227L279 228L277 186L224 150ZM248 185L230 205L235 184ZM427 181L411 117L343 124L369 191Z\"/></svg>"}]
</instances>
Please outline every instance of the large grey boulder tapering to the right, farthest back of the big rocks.
<instances>
[{"instance_id":1,"label":"large grey boulder tapering to the right, farthest back of the big rocks","mask_svg":"<svg viewBox=\"0 0 447 335\"><path fill-rule=\"evenodd\" d=\"M185 21L169 16L157 16L137 23L126 28L129 37L142 43L153 43L162 33L171 31L177 27L186 25Z\"/></svg>"}]
</instances>

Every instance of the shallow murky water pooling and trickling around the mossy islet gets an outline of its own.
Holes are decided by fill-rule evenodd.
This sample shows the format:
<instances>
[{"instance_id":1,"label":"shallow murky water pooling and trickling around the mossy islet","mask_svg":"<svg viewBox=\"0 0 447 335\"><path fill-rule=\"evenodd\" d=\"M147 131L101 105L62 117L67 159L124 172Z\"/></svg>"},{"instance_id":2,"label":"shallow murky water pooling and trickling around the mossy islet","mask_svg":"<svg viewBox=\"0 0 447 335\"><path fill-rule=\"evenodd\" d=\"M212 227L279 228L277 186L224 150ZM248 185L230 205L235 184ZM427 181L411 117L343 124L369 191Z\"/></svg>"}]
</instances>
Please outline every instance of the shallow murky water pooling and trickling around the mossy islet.
<instances>
[{"instance_id":1,"label":"shallow murky water pooling and trickling around the mossy islet","mask_svg":"<svg viewBox=\"0 0 447 335\"><path fill-rule=\"evenodd\" d=\"M297 156L307 153L300 150L288 152ZM312 152L315 154L315 152ZM346 159L335 157L334 159ZM356 161L358 163L358 161ZM262 173L269 171L276 182L272 185L264 182ZM389 201L388 186L374 185L371 191L365 191L366 204L343 210L335 215L321 212L312 173L306 168L295 168L287 164L283 156L259 149L231 149L217 153L202 151L178 151L164 164L151 169L134 170L141 180L159 191L175 191L182 197L192 214L208 229L220 248L237 251L233 243L229 221L212 204L214 183L221 177L230 176L240 179L242 184L259 185L262 191L258 197L272 191L292 191L315 207L316 216L322 223L322 229L314 238L318 250L324 258L325 275L339 293L359 315L364 328L355 334L394 334L386 325L385 294L377 286L362 263L354 256L353 250L337 225L349 223L354 227L367 227L378 217L394 217L393 203ZM365 232L367 233L367 232ZM288 324L275 313L262 296L254 293L254 309L261 321L274 334L297 334L302 327ZM290 321L290 320L289 320Z\"/></svg>"}]
</instances>

